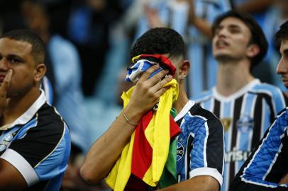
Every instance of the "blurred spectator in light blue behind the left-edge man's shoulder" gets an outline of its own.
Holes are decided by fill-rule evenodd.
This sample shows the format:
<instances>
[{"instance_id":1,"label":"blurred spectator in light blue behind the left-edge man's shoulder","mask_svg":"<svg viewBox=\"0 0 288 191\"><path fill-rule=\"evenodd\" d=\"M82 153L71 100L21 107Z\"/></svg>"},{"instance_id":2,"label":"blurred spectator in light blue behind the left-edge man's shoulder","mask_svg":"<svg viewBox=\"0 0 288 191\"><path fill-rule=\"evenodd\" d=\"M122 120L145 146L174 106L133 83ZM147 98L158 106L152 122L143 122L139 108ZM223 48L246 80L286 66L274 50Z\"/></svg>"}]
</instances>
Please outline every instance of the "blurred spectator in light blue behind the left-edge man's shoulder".
<instances>
[{"instance_id":1,"label":"blurred spectator in light blue behind the left-edge man's shoulder","mask_svg":"<svg viewBox=\"0 0 288 191\"><path fill-rule=\"evenodd\" d=\"M27 0L22 7L28 27L46 43L47 57L55 73L56 108L70 127L72 142L86 151L88 125L81 104L81 68L77 50L60 35L50 33L50 20L41 4Z\"/></svg>"}]
</instances>

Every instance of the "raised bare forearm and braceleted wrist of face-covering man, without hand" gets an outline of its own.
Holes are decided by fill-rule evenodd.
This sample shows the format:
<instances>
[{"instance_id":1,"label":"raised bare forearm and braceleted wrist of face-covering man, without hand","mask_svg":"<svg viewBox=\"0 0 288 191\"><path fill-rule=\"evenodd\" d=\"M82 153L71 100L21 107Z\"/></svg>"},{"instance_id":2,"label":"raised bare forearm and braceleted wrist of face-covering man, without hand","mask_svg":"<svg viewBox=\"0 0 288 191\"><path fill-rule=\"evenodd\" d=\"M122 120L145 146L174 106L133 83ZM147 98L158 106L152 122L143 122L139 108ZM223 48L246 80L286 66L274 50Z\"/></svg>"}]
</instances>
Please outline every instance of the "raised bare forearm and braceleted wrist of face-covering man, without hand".
<instances>
[{"instance_id":1,"label":"raised bare forearm and braceleted wrist of face-covering man, without hand","mask_svg":"<svg viewBox=\"0 0 288 191\"><path fill-rule=\"evenodd\" d=\"M140 120L141 115L132 109L126 108L125 111L130 117L129 120L133 122ZM121 112L111 127L89 149L80 169L82 178L89 183L99 183L103 180L128 143L134 129L135 125L128 124Z\"/></svg>"}]
</instances>

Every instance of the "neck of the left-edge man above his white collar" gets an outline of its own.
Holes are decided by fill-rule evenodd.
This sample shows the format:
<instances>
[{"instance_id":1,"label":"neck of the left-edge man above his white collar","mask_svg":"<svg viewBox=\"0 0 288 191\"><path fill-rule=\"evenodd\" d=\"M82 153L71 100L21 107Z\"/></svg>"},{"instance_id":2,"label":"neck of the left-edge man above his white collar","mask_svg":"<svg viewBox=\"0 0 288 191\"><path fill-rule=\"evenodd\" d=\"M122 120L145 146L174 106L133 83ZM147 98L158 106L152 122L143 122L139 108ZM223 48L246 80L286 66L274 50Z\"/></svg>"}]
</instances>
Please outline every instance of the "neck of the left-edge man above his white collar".
<instances>
[{"instance_id":1,"label":"neck of the left-edge man above his white collar","mask_svg":"<svg viewBox=\"0 0 288 191\"><path fill-rule=\"evenodd\" d=\"M33 87L25 96L11 97L9 105L1 116L1 126L11 124L23 115L39 96L39 88Z\"/></svg>"}]
</instances>

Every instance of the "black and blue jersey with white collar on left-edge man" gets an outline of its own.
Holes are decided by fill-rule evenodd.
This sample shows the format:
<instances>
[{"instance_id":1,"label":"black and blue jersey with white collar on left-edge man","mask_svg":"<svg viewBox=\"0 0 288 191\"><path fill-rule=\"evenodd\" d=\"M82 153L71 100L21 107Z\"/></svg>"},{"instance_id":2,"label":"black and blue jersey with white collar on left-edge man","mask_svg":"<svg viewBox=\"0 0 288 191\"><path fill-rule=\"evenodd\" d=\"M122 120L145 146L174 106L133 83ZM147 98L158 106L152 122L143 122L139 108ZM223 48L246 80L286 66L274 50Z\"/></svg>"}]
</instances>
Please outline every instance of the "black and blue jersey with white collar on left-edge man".
<instances>
[{"instance_id":1,"label":"black and blue jersey with white collar on left-edge man","mask_svg":"<svg viewBox=\"0 0 288 191\"><path fill-rule=\"evenodd\" d=\"M5 127L5 128L4 128ZM11 125L1 127L0 158L26 180L26 190L60 190L70 156L70 134L44 92Z\"/></svg>"}]
</instances>

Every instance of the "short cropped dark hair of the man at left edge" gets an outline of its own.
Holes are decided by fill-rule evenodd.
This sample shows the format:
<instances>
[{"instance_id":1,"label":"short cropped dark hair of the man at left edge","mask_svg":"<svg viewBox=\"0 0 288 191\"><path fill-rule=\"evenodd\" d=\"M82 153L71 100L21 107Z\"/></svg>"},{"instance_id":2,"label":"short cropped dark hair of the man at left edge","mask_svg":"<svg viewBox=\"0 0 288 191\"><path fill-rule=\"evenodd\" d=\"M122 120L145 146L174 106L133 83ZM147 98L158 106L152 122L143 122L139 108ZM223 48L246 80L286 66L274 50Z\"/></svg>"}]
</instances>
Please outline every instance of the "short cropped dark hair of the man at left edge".
<instances>
[{"instance_id":1,"label":"short cropped dark hair of the man at left edge","mask_svg":"<svg viewBox=\"0 0 288 191\"><path fill-rule=\"evenodd\" d=\"M45 59L44 42L38 35L33 33L31 30L26 29L11 30L1 35L0 38L4 37L9 38L11 40L19 40L30 43L32 45L31 54L36 64L44 62Z\"/></svg>"}]
</instances>

